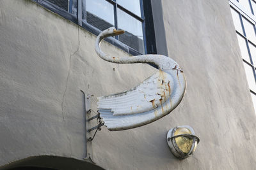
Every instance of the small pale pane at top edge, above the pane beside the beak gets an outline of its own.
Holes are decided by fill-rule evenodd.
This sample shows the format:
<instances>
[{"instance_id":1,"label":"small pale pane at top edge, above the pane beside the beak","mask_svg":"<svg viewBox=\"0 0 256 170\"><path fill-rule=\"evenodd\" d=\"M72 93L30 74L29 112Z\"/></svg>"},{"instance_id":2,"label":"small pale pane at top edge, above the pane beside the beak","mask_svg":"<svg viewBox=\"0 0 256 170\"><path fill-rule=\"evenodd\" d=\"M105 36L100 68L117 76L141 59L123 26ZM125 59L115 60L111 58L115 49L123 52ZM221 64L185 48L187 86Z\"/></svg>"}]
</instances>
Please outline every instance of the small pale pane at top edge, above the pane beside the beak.
<instances>
[{"instance_id":1,"label":"small pale pane at top edge, above the pane beside the beak","mask_svg":"<svg viewBox=\"0 0 256 170\"><path fill-rule=\"evenodd\" d=\"M116 0L116 3L120 4L127 10L141 17L140 0Z\"/></svg>"}]
</instances>

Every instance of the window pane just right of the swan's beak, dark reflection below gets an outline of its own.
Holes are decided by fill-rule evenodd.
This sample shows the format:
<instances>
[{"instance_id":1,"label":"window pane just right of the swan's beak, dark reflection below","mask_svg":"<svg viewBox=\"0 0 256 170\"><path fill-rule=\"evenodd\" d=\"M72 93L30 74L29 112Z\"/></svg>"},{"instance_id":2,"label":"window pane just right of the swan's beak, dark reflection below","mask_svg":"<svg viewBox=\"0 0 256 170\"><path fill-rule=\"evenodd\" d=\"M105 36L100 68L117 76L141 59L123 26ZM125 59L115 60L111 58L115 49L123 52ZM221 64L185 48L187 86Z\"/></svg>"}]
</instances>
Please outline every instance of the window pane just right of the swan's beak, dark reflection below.
<instances>
[{"instance_id":1,"label":"window pane just right of the swan's beak, dark reflection below","mask_svg":"<svg viewBox=\"0 0 256 170\"><path fill-rule=\"evenodd\" d=\"M125 30L125 33L119 36L119 40L134 50L144 53L142 23L120 9L117 9L117 22L118 29Z\"/></svg>"}]
</instances>

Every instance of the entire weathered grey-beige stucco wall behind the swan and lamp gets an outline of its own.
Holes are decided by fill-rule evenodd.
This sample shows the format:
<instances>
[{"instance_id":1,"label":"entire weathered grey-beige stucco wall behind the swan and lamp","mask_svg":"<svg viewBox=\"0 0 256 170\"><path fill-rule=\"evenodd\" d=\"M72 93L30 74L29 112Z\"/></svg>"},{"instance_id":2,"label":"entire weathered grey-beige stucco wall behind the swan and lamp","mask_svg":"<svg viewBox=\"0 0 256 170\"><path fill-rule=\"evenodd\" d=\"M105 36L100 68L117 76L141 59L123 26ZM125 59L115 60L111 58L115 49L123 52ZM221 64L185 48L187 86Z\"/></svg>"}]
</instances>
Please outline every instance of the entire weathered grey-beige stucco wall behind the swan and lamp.
<instances>
[{"instance_id":1,"label":"entire weathered grey-beige stucco wall behind the swan and lamp","mask_svg":"<svg viewBox=\"0 0 256 170\"><path fill-rule=\"evenodd\" d=\"M119 132L103 127L93 159L105 169L253 169L256 118L228 2L162 4L168 55L188 80L184 100L152 124ZM80 89L94 95L96 111L96 97L130 89L156 71L101 60L95 38L31 1L0 1L0 166L36 155L83 160ZM106 42L102 48L127 55ZM193 157L178 160L168 149L166 132L176 125L191 125L200 138Z\"/></svg>"}]
</instances>

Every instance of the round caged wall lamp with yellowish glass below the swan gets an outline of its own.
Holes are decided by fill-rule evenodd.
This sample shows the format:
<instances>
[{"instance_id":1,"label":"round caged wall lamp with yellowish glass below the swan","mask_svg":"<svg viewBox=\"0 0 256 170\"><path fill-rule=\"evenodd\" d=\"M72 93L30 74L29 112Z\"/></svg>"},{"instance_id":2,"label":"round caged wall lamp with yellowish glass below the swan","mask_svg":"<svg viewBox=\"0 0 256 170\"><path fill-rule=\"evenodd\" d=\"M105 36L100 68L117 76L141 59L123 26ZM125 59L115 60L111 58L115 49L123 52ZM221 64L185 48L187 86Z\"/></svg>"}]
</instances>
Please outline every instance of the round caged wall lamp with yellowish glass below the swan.
<instances>
[{"instance_id":1,"label":"round caged wall lamp with yellowish glass below the swan","mask_svg":"<svg viewBox=\"0 0 256 170\"><path fill-rule=\"evenodd\" d=\"M173 155L179 159L192 155L199 141L192 127L188 125L174 127L167 133L168 146Z\"/></svg>"}]
</instances>

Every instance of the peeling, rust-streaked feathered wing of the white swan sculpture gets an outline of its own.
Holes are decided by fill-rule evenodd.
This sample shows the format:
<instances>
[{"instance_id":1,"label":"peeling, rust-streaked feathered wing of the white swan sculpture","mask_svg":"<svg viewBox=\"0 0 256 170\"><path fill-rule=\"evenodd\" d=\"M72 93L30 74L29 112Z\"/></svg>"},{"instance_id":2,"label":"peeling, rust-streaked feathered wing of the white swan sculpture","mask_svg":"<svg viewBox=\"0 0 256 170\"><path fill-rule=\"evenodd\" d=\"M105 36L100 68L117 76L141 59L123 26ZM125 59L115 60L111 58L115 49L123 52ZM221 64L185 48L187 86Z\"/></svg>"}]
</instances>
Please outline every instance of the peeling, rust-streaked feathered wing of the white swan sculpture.
<instances>
[{"instance_id":1,"label":"peeling, rust-streaked feathered wing of the white swan sculpture","mask_svg":"<svg viewBox=\"0 0 256 170\"><path fill-rule=\"evenodd\" d=\"M131 90L98 97L98 110L111 111L114 116L145 113L167 101L173 89L172 76L159 70Z\"/></svg>"}]
</instances>

